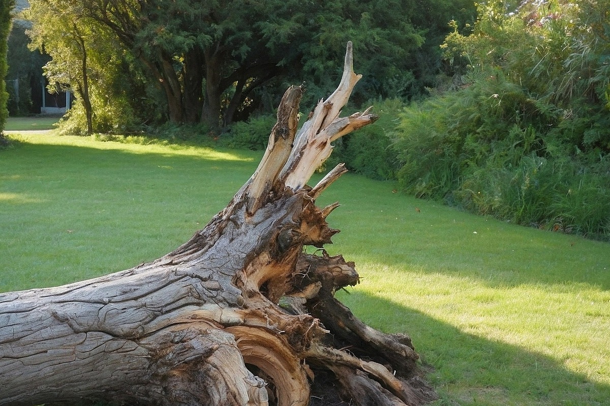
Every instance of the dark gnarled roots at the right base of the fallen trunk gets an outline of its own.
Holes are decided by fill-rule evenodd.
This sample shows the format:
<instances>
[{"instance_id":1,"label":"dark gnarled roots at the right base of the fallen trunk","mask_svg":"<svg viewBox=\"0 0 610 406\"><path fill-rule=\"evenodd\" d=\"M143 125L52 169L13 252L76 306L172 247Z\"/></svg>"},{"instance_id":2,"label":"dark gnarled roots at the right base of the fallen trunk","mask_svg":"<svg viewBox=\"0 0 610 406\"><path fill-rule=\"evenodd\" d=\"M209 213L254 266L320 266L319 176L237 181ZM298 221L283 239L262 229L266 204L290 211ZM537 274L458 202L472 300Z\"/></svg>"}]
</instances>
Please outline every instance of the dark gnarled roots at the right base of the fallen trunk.
<instances>
[{"instance_id":1,"label":"dark gnarled roots at the right base of the fallen trunk","mask_svg":"<svg viewBox=\"0 0 610 406\"><path fill-rule=\"evenodd\" d=\"M358 282L353 262L342 256L331 257L325 251L321 256L301 254L291 279L292 291L280 303L295 315L313 315L327 329L301 354L317 377L312 393L323 393L312 397L312 404L331 404L322 398L336 401L337 395L362 406L420 405L434 400L436 394L420 379L418 355L409 337L368 327L334 298L338 289Z\"/></svg>"}]
</instances>

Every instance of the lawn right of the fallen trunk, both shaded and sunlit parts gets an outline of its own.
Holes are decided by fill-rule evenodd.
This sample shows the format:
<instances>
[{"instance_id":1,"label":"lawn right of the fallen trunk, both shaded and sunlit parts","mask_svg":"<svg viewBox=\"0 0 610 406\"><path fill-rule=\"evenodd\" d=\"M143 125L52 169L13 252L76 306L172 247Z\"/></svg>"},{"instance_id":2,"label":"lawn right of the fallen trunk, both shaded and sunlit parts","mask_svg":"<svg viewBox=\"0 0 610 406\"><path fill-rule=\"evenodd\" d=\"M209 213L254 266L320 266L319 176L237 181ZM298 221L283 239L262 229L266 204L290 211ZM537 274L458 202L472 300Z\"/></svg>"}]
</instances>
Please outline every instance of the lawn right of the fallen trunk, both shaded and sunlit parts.
<instances>
[{"instance_id":1,"label":"lawn right of the fallen trunk, both shaded and sunlit parts","mask_svg":"<svg viewBox=\"0 0 610 406\"><path fill-rule=\"evenodd\" d=\"M610 245L476 217L347 175L318 203L331 253L361 284L340 298L408 332L436 405L609 405Z\"/></svg>"}]
</instances>

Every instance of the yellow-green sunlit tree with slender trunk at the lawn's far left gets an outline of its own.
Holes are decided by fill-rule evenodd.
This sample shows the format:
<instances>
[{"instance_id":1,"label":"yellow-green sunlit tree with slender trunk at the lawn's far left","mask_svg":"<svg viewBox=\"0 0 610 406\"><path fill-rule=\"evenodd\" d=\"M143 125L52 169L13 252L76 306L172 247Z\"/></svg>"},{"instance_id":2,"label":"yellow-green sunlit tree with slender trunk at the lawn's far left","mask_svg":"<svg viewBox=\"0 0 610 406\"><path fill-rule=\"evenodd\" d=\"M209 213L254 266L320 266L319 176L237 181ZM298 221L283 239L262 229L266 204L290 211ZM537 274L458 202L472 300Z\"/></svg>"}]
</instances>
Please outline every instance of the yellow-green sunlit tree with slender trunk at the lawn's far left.
<instances>
[{"instance_id":1,"label":"yellow-green sunlit tree with slender trunk at the lawn's far left","mask_svg":"<svg viewBox=\"0 0 610 406\"><path fill-rule=\"evenodd\" d=\"M64 131L91 134L131 127L143 104L137 69L110 30L90 17L80 1L30 1L30 47L51 55L44 66L51 91L70 89L77 100ZM131 72L130 72L131 70ZM138 102L133 102L138 100ZM146 114L143 112L143 114ZM83 117L81 120L79 117ZM68 120L70 121L70 120ZM79 128L85 123L84 128Z\"/></svg>"}]
</instances>

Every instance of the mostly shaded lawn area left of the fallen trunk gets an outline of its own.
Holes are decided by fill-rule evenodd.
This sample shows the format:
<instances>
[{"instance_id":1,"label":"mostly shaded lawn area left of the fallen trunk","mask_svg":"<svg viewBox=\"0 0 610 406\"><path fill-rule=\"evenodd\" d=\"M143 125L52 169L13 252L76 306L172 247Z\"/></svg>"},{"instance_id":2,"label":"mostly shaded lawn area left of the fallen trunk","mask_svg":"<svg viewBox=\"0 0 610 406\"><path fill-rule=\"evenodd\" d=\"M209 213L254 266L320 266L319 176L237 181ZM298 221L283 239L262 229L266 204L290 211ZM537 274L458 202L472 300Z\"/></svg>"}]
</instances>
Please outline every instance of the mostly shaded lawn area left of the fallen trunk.
<instances>
[{"instance_id":1,"label":"mostly shaded lawn area left of the fallen trunk","mask_svg":"<svg viewBox=\"0 0 610 406\"><path fill-rule=\"evenodd\" d=\"M66 284L151 261L207 223L259 156L11 135L0 152L0 291Z\"/></svg>"}]
</instances>

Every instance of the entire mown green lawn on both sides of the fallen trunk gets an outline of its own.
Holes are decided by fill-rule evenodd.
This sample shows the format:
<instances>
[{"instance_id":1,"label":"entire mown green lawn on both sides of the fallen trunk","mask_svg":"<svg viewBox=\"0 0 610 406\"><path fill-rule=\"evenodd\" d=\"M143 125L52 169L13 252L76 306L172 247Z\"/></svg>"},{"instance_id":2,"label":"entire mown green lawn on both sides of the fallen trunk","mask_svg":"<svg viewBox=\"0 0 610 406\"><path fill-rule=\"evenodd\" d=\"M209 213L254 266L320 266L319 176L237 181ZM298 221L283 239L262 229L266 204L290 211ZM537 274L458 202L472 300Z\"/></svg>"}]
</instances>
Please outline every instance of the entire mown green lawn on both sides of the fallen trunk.
<instances>
[{"instance_id":1,"label":"entire mown green lawn on both sides of the fallen trunk","mask_svg":"<svg viewBox=\"0 0 610 406\"><path fill-rule=\"evenodd\" d=\"M0 292L129 268L188 239L261 153L13 136L0 152ZM394 193L349 173L318 205L356 261L340 298L414 340L440 405L610 405L610 245Z\"/></svg>"}]
</instances>

